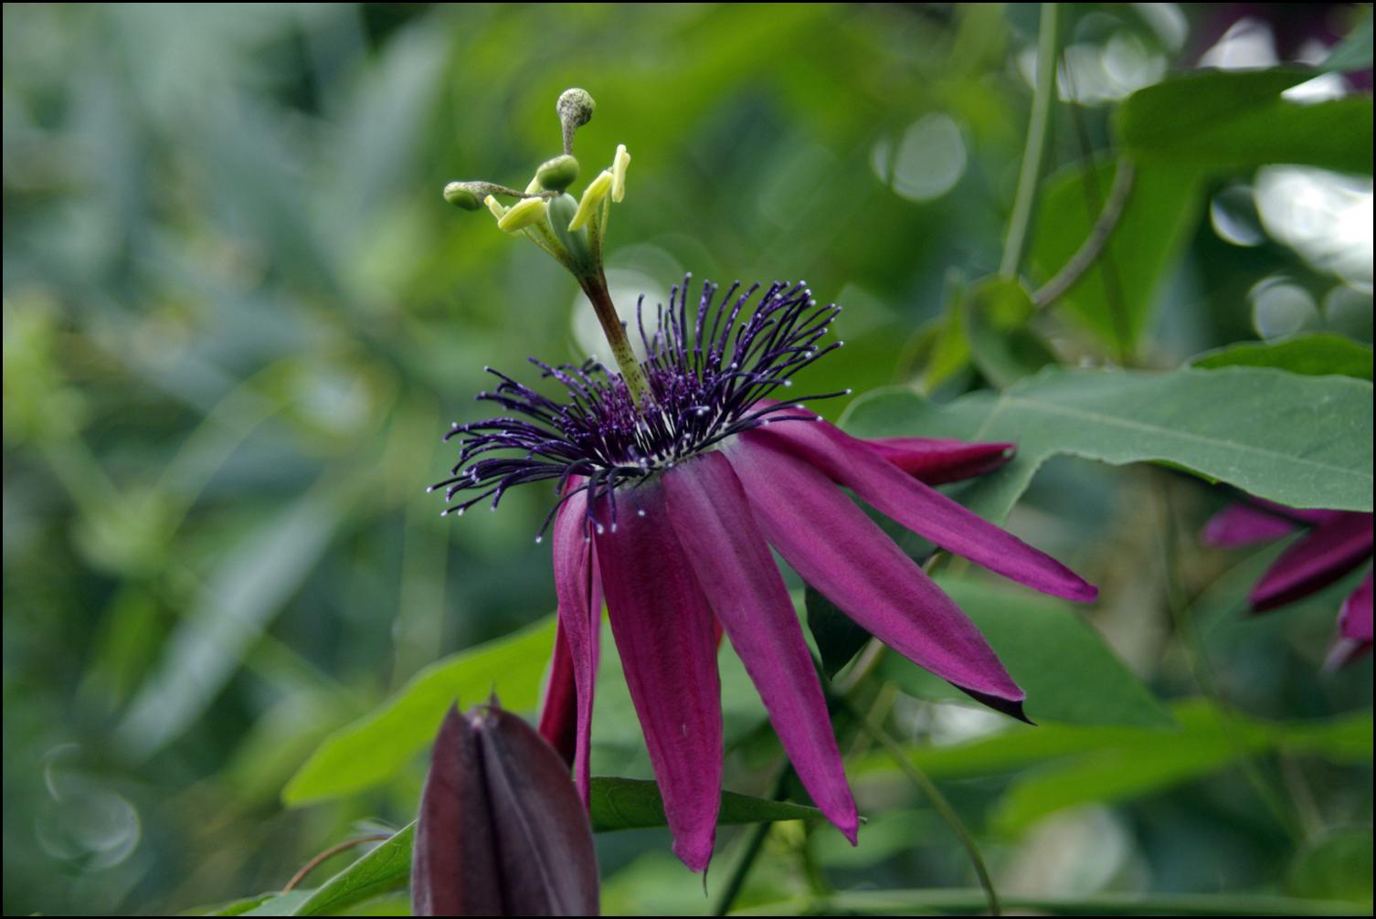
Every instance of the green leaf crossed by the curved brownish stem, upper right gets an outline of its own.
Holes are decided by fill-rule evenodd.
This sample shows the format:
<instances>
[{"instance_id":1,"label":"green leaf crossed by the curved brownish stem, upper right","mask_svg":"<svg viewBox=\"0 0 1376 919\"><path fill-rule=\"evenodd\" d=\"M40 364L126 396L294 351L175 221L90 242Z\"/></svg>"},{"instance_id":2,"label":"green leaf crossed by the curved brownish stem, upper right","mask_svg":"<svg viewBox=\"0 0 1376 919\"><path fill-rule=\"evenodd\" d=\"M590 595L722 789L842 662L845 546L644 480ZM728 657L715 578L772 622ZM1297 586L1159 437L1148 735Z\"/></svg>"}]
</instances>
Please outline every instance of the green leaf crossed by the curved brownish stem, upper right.
<instances>
[{"instance_id":1,"label":"green leaf crossed by the curved brownish stem, upper right","mask_svg":"<svg viewBox=\"0 0 1376 919\"><path fill-rule=\"evenodd\" d=\"M1084 245L1117 168L1113 162L1079 164L1047 180L1031 253L1042 282ZM1201 208L1198 169L1138 164L1108 244L1055 310L1073 315L1119 354L1131 354L1150 327L1153 308L1198 226Z\"/></svg>"}]
</instances>

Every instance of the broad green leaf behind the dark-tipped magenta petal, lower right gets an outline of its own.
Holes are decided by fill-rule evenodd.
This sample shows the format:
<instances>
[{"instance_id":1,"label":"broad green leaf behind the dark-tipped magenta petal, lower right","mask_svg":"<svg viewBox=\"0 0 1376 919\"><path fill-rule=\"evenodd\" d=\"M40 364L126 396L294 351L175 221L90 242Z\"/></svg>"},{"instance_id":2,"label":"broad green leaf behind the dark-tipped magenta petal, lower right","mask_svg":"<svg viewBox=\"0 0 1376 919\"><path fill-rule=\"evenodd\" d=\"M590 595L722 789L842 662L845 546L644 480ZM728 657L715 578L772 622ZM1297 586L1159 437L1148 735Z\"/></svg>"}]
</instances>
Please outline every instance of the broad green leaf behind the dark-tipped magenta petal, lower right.
<instances>
[{"instance_id":1,"label":"broad green leaf behind the dark-tipped magenta petal, lower right","mask_svg":"<svg viewBox=\"0 0 1376 919\"><path fill-rule=\"evenodd\" d=\"M1175 724L1069 604L981 581L941 578L938 582L1028 693L1026 713L1033 721L1148 728ZM899 655L885 656L879 671L914 696L967 698Z\"/></svg>"}]
</instances>

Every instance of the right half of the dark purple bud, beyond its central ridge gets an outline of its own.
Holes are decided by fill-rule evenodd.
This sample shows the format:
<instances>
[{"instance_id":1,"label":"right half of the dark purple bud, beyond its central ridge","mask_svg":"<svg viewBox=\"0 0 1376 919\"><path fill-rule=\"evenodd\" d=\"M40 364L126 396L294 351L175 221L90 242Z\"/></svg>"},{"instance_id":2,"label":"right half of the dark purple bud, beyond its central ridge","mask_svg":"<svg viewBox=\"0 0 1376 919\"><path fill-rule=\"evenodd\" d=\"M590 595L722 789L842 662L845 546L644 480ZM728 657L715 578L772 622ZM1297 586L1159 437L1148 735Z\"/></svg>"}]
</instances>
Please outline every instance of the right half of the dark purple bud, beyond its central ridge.
<instances>
[{"instance_id":1,"label":"right half of the dark purple bud, beyond its central ridge","mask_svg":"<svg viewBox=\"0 0 1376 919\"><path fill-rule=\"evenodd\" d=\"M568 769L517 715L475 715L491 803L504 915L597 915L592 825ZM468 913L473 915L473 913Z\"/></svg>"}]
</instances>

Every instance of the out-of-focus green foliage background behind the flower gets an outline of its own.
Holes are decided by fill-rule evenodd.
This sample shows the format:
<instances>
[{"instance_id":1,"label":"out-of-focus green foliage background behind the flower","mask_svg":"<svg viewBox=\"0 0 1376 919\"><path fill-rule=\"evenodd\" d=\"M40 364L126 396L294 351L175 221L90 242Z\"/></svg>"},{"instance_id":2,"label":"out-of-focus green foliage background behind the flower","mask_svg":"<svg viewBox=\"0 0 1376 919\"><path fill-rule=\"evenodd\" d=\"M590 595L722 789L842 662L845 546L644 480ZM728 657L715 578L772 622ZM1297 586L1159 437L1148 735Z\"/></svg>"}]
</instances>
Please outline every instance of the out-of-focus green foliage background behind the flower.
<instances>
[{"instance_id":1,"label":"out-of-focus green foliage background behind the flower","mask_svg":"<svg viewBox=\"0 0 1376 919\"><path fill-rule=\"evenodd\" d=\"M1065 6L1035 282L1109 191L1115 103L1201 61L1315 63L1362 15ZM663 299L685 271L801 275L846 307L848 348L809 385L907 382L938 399L1000 385L948 305L999 266L1036 17L6 4L4 912L186 909L281 887L361 819L405 823L421 759L343 802L285 809L279 794L325 735L421 667L550 611L549 550L531 539L541 495L442 521L424 487L453 461L439 435L477 417L484 365L579 359L596 323L556 264L486 213L447 208L444 182L524 184L559 151L553 99L586 87L599 107L578 139L585 175L616 143L634 157L610 239L621 307ZM1366 66L1310 89L1369 88ZM1039 316L1039 340L1066 363L1141 367L1303 332L1369 343L1366 173L1143 172L1112 274ZM1200 644L1238 711L1369 709L1369 659L1315 673L1342 594L1244 620L1265 557L1241 571L1236 553L1189 549L1163 565L1161 534L1193 532L1227 499L1183 479L1168 491L1060 460L1011 526L1104 587L1093 623L1163 698L1197 692L1170 615L1181 582L1208 601ZM933 744L1002 726L905 695L893 717ZM1044 819L1009 816L1007 775L956 770L948 791L1000 882L1031 894L1289 878L1291 891L1369 901L1366 725L1355 765L1256 754L1262 780L1300 802L1299 836L1230 757ZM864 845L783 824L771 852L806 850L839 887L967 883L926 805L883 769L853 769L875 814ZM1011 781L1054 780L1047 769L1020 762ZM608 911L705 907L662 836L648 854L637 834L600 845ZM747 898L806 889L793 864L761 861Z\"/></svg>"}]
</instances>

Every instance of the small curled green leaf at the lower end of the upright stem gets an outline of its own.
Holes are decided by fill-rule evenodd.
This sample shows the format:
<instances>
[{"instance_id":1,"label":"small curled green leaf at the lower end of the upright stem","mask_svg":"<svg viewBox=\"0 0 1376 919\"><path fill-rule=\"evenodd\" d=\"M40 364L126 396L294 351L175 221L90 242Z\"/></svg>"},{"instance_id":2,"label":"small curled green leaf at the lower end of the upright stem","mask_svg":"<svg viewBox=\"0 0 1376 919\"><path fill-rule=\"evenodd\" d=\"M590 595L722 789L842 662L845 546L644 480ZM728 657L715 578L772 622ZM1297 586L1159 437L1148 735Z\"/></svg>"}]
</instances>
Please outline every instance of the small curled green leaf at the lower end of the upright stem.
<instances>
[{"instance_id":1,"label":"small curled green leaf at the lower end of the upright stem","mask_svg":"<svg viewBox=\"0 0 1376 919\"><path fill-rule=\"evenodd\" d=\"M1051 348L1028 327L1036 307L1021 281L984 278L976 282L966 292L960 312L974 366L995 387L1010 387L1055 363Z\"/></svg>"}]
</instances>

